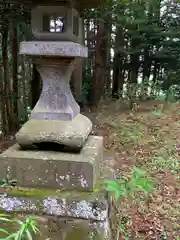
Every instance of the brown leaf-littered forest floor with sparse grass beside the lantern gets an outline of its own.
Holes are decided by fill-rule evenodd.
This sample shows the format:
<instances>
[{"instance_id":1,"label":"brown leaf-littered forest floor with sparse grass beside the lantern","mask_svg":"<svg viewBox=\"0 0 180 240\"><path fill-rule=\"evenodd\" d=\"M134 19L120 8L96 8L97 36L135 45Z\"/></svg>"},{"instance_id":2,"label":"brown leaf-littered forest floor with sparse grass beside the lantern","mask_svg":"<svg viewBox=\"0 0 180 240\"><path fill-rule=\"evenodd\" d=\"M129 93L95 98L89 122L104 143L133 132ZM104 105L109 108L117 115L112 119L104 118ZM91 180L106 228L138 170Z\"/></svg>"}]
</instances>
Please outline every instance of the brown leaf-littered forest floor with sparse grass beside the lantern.
<instances>
[{"instance_id":1,"label":"brown leaf-littered forest floor with sparse grass beside the lantern","mask_svg":"<svg viewBox=\"0 0 180 240\"><path fill-rule=\"evenodd\" d=\"M148 101L128 111L118 102L85 112L94 123L93 134L104 137L105 155L116 176L128 175L134 166L154 180L153 193L140 194L139 202L117 202L112 216L119 239L180 239L180 104ZM0 150L12 140L0 141ZM180 152L179 152L180 153ZM120 222L119 222L120 220Z\"/></svg>"}]
</instances>

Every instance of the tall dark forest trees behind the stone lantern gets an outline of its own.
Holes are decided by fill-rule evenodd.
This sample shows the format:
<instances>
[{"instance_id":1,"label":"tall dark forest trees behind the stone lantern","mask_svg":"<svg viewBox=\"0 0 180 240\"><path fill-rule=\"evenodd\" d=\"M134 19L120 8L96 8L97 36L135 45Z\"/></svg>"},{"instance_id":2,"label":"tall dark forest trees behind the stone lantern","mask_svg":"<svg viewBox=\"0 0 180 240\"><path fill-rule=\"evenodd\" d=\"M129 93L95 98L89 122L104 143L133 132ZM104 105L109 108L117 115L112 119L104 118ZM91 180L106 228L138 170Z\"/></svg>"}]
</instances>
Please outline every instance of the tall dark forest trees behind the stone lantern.
<instances>
[{"instance_id":1,"label":"tall dark forest trees behind the stone lantern","mask_svg":"<svg viewBox=\"0 0 180 240\"><path fill-rule=\"evenodd\" d=\"M89 57L77 62L72 90L77 101L127 101L180 96L180 4L175 0L109 0L84 13ZM32 39L30 12L0 3L1 129L15 132L28 119L41 82L19 43ZM163 94L163 95L162 95Z\"/></svg>"}]
</instances>

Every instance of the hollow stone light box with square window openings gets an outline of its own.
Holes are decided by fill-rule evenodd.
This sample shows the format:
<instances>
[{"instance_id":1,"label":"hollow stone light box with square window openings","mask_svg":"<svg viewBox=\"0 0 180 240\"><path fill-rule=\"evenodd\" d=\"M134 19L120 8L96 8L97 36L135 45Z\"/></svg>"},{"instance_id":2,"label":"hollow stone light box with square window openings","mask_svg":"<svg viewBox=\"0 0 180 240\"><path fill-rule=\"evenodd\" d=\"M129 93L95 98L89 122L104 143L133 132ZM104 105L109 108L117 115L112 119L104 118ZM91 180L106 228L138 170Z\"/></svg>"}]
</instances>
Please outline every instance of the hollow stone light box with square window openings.
<instances>
[{"instance_id":1,"label":"hollow stone light box with square window openings","mask_svg":"<svg viewBox=\"0 0 180 240\"><path fill-rule=\"evenodd\" d=\"M81 21L78 11L68 4L32 9L32 32L38 40L81 43Z\"/></svg>"}]
</instances>

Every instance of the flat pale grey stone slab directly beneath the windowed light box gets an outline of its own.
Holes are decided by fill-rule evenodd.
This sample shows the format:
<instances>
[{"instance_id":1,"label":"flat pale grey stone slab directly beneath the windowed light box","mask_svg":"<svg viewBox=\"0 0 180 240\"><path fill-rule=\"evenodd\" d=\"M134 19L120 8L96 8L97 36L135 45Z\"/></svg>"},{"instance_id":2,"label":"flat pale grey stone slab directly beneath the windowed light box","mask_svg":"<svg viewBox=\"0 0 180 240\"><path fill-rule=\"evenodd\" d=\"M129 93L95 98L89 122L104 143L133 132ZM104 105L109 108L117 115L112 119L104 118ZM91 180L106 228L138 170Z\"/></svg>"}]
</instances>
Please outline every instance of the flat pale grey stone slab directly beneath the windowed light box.
<instances>
[{"instance_id":1,"label":"flat pale grey stone slab directly beneath the windowed light box","mask_svg":"<svg viewBox=\"0 0 180 240\"><path fill-rule=\"evenodd\" d=\"M21 42L19 52L29 56L88 57L87 47L70 41Z\"/></svg>"}]
</instances>

